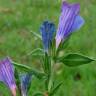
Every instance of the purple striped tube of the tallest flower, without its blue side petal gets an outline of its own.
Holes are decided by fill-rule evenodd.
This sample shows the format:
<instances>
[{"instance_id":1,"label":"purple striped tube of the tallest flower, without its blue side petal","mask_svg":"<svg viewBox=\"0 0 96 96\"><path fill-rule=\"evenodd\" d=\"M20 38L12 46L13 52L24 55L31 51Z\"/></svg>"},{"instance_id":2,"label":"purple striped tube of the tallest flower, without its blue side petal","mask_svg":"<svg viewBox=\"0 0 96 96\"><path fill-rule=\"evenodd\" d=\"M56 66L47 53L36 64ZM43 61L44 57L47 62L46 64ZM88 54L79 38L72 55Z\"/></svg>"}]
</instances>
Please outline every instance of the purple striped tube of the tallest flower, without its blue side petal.
<instances>
[{"instance_id":1,"label":"purple striped tube of the tallest flower, without its blue side petal","mask_svg":"<svg viewBox=\"0 0 96 96\"><path fill-rule=\"evenodd\" d=\"M70 35L74 21L79 14L79 10L79 4L68 4L66 2L63 2L62 12L56 34L56 48L58 48L60 42L63 39Z\"/></svg>"}]
</instances>

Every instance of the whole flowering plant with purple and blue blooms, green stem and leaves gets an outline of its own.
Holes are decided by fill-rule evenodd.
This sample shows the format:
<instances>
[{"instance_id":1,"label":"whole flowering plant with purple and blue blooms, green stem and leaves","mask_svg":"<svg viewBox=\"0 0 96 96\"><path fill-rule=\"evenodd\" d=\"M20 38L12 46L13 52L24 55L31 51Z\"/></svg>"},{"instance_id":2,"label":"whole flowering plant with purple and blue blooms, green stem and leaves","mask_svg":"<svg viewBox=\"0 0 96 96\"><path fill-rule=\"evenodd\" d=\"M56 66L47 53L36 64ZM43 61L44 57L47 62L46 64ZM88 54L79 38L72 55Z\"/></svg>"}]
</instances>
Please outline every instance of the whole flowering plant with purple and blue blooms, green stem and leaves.
<instances>
[{"instance_id":1,"label":"whole flowering plant with purple and blue blooms, green stem and leaves","mask_svg":"<svg viewBox=\"0 0 96 96\"><path fill-rule=\"evenodd\" d=\"M41 53L42 72L13 62L9 57L0 61L0 81L9 87L13 96L16 96L17 93L20 96L28 96L33 75L44 81L45 90L36 92L32 96L54 96L63 84L61 81L59 84L55 84L56 70L54 67L56 64L63 63L66 66L74 67L94 61L92 58L77 53L60 55L60 52L64 51L69 37L84 24L84 19L80 16L79 11L79 4L63 2L57 31L53 22L44 21L40 27L41 36L35 34L42 40L44 49L34 49L31 54ZM18 69L23 70L24 73L19 72Z\"/></svg>"}]
</instances>

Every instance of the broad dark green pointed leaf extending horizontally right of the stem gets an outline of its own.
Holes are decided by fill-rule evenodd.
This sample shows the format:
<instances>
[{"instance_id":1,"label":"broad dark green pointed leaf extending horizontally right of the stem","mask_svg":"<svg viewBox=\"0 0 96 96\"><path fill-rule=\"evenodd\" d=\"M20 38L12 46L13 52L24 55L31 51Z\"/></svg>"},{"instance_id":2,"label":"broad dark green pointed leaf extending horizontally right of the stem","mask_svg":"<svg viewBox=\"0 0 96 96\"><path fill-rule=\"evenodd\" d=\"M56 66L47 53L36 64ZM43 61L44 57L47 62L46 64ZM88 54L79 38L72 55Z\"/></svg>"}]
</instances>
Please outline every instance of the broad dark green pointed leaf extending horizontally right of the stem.
<instances>
[{"instance_id":1,"label":"broad dark green pointed leaf extending horizontally right of the stem","mask_svg":"<svg viewBox=\"0 0 96 96\"><path fill-rule=\"evenodd\" d=\"M80 54L68 54L67 56L60 57L58 60L64 63L65 65L72 67L88 64L94 61L94 59L91 59L89 57Z\"/></svg>"}]
</instances>

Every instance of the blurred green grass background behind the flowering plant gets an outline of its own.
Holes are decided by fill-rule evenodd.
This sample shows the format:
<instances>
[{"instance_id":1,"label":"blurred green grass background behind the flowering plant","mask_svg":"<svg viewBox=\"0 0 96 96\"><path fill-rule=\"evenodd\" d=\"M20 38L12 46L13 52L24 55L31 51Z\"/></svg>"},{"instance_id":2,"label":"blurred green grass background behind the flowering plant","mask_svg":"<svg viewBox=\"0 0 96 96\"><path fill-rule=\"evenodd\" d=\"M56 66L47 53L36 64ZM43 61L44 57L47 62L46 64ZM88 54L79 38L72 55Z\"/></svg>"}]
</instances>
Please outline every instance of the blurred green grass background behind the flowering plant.
<instances>
[{"instance_id":1,"label":"blurred green grass background behind the flowering plant","mask_svg":"<svg viewBox=\"0 0 96 96\"><path fill-rule=\"evenodd\" d=\"M96 0L79 2L85 25L70 38L65 53L80 53L96 58ZM60 0L0 0L0 58L10 56L15 62L42 70L40 59L27 56L34 48L42 47L32 32L39 32L42 21L53 21L60 15ZM56 82L64 81L55 96L96 96L96 62L89 65L57 68ZM33 78L29 96L44 90L41 80ZM9 96L0 85L0 96ZM7 89L5 89L7 90Z\"/></svg>"}]
</instances>

